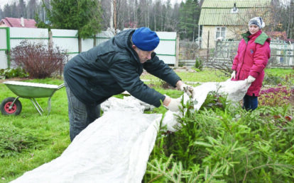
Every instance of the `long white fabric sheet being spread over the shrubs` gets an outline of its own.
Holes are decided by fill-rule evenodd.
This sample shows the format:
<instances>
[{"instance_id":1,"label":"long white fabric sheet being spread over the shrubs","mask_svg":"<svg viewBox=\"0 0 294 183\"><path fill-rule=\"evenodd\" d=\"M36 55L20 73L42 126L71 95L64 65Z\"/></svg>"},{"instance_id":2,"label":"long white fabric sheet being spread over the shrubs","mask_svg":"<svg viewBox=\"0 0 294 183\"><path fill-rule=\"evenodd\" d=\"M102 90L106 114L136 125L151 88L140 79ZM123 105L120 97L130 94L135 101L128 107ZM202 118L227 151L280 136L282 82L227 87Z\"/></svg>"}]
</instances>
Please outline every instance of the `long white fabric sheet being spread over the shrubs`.
<instances>
[{"instance_id":1,"label":"long white fabric sheet being spread over the shrubs","mask_svg":"<svg viewBox=\"0 0 294 183\"><path fill-rule=\"evenodd\" d=\"M200 109L210 91L239 102L248 88L246 81L203 83L195 87L194 108ZM60 157L13 182L141 182L162 118L162 114L142 114L146 107L150 106L132 97L107 100L102 104L103 116L76 136ZM178 125L174 114L168 111L163 119L169 131Z\"/></svg>"}]
</instances>

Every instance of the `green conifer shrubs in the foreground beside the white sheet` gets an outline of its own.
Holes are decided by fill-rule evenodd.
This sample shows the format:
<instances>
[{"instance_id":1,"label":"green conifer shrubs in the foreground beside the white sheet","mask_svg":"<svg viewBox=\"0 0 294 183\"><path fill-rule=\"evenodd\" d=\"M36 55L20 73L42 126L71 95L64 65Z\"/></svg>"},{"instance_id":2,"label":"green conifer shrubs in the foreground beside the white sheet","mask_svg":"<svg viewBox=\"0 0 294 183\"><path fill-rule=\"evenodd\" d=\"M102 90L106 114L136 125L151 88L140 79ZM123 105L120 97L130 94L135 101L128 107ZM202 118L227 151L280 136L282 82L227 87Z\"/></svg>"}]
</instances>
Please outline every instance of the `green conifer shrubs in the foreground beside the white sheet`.
<instances>
[{"instance_id":1,"label":"green conifer shrubs in the foreground beside the white sheet","mask_svg":"<svg viewBox=\"0 0 294 183\"><path fill-rule=\"evenodd\" d=\"M294 182L289 114L286 106L248 112L209 93L200 110L183 110L178 131L158 131L143 182Z\"/></svg>"}]
</instances>

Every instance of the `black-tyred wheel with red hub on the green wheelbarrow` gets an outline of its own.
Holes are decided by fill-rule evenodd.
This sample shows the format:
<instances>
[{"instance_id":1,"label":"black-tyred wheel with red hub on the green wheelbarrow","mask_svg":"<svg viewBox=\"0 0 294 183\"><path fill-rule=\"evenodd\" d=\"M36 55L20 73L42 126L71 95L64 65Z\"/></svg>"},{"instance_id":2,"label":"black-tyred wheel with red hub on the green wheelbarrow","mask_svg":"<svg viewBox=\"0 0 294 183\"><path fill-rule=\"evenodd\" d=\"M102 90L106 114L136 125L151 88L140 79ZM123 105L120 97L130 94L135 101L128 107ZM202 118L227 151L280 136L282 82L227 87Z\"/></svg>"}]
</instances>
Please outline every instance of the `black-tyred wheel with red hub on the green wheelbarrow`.
<instances>
[{"instance_id":1,"label":"black-tyred wheel with red hub on the green wheelbarrow","mask_svg":"<svg viewBox=\"0 0 294 183\"><path fill-rule=\"evenodd\" d=\"M1 102L0 105L0 110L1 113L4 115L18 115L21 113L21 102L19 100L16 100L16 102L14 102L13 106L11 107L11 109L9 109L10 105L12 104L12 102L16 100L16 98L6 98Z\"/></svg>"}]
</instances>

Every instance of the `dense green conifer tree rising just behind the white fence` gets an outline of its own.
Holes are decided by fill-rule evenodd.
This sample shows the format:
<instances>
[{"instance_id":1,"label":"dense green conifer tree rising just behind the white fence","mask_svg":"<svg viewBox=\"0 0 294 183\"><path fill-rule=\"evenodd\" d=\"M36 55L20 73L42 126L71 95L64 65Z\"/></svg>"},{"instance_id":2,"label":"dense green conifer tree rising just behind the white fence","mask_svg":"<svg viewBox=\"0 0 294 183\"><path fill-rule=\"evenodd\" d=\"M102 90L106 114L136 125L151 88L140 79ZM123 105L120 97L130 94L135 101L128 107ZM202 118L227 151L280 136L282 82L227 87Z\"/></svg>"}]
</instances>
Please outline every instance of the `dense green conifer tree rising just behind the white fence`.
<instances>
[{"instance_id":1,"label":"dense green conifer tree rising just behind the white fence","mask_svg":"<svg viewBox=\"0 0 294 183\"><path fill-rule=\"evenodd\" d=\"M52 28L78 30L83 39L101 31L101 8L96 0L51 0L50 6L46 13Z\"/></svg>"}]
</instances>

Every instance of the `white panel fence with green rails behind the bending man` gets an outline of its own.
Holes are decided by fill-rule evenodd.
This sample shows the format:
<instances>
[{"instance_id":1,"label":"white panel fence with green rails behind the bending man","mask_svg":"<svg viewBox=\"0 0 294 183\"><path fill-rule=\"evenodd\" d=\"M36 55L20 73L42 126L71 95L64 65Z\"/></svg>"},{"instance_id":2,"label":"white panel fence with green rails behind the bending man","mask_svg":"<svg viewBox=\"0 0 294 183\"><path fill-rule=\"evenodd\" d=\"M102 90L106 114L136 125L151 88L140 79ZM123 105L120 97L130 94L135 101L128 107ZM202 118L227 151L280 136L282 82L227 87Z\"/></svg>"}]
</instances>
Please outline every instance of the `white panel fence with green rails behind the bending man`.
<instances>
[{"instance_id":1,"label":"white panel fence with green rails behind the bending man","mask_svg":"<svg viewBox=\"0 0 294 183\"><path fill-rule=\"evenodd\" d=\"M156 32L160 38L160 43L155 52L160 59L166 64L177 65L176 61L176 42L177 34L175 32ZM40 28L0 28L0 69L9 68L11 65L9 52L11 48L16 47L23 40L29 42L41 42L48 45L53 42L53 46L57 46L68 54L68 59L79 54L79 44L77 30L60 30L52 29L52 36L48 29ZM95 36L96 45L114 37L111 31L102 31ZM82 40L82 52L94 47L94 38L91 37Z\"/></svg>"}]
</instances>

